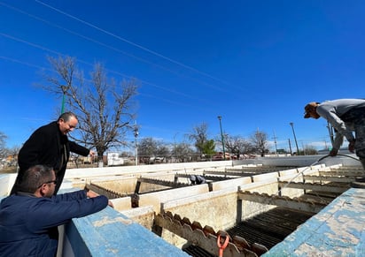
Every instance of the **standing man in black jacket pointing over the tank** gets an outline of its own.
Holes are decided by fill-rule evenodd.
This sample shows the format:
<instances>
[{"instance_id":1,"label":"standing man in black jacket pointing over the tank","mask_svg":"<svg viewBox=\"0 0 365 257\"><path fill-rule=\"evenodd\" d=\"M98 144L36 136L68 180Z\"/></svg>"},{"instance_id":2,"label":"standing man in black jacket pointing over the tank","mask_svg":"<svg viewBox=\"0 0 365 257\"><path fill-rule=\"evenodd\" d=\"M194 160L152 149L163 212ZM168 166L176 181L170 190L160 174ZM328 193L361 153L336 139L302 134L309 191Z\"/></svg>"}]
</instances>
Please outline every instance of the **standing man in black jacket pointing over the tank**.
<instances>
[{"instance_id":1,"label":"standing man in black jacket pointing over the tank","mask_svg":"<svg viewBox=\"0 0 365 257\"><path fill-rule=\"evenodd\" d=\"M86 147L76 144L67 138L67 133L74 131L78 119L72 112L65 112L57 121L38 128L21 147L18 155L19 172L12 193L18 191L22 182L23 173L29 167L43 164L53 168L56 172L57 185L54 191L56 195L65 177L66 166L70 152L77 155L94 155L94 152ZM11 193L11 194L12 194Z\"/></svg>"}]
</instances>

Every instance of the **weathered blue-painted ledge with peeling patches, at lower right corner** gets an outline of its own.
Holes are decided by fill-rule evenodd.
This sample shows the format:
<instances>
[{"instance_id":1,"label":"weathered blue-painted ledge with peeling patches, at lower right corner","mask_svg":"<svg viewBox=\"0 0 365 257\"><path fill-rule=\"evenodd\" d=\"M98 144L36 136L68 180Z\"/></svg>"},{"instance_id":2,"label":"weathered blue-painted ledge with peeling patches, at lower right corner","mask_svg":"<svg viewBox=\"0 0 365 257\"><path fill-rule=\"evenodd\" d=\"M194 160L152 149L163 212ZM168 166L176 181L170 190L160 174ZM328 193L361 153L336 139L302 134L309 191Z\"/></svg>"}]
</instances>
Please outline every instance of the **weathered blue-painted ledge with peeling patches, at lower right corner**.
<instances>
[{"instance_id":1,"label":"weathered blue-painted ledge with peeling patches, at lower right corner","mask_svg":"<svg viewBox=\"0 0 365 257\"><path fill-rule=\"evenodd\" d=\"M262 256L365 256L365 190L349 189Z\"/></svg>"}]
</instances>

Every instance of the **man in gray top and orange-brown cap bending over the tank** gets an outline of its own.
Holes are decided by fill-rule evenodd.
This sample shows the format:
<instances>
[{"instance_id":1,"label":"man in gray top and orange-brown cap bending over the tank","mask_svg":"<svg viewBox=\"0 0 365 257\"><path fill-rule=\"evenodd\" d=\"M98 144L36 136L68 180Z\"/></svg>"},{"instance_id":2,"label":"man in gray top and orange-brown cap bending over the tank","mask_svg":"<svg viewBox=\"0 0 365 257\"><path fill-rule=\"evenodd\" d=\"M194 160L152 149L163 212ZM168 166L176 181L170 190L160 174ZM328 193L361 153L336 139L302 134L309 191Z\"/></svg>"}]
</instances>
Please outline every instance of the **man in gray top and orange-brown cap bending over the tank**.
<instances>
[{"instance_id":1,"label":"man in gray top and orange-brown cap bending over the tank","mask_svg":"<svg viewBox=\"0 0 365 257\"><path fill-rule=\"evenodd\" d=\"M365 170L365 100L338 99L326 102L309 102L305 110L305 118L325 118L336 133L331 156L338 155L338 149L346 137L349 142L348 150L360 158ZM354 132L354 136L353 136ZM365 182L365 178L364 181Z\"/></svg>"}]
</instances>

